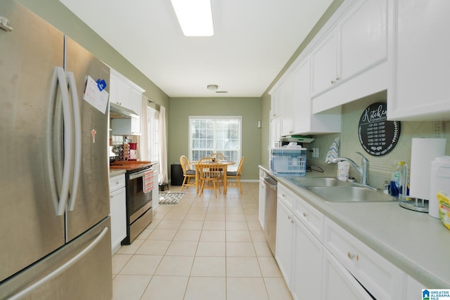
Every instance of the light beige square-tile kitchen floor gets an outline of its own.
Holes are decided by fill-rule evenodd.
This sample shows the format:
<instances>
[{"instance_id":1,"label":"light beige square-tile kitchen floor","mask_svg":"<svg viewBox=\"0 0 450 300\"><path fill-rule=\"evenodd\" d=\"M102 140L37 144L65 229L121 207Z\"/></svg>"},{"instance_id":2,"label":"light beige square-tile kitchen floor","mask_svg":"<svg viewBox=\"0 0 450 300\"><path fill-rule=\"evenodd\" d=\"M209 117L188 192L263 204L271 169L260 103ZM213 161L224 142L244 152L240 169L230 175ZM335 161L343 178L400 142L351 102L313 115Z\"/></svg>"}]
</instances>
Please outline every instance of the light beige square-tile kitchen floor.
<instances>
[{"instance_id":1,"label":"light beige square-tile kitchen floor","mask_svg":"<svg viewBox=\"0 0 450 300\"><path fill-rule=\"evenodd\" d=\"M217 198L184 191L113 256L113 299L291 300L259 225L258 183Z\"/></svg>"}]
</instances>

